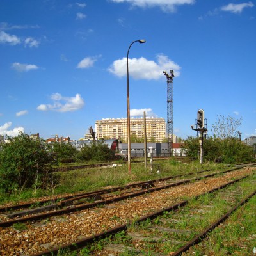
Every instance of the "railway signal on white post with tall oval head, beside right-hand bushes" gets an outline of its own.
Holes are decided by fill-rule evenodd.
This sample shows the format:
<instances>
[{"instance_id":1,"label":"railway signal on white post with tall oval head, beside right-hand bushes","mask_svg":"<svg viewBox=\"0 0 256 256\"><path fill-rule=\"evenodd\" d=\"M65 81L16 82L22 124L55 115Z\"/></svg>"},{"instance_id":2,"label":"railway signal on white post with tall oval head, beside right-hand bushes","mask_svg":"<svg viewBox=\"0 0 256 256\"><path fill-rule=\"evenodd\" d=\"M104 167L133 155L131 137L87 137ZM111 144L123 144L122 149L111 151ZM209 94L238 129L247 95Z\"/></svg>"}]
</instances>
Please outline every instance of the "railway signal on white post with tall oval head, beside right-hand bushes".
<instances>
[{"instance_id":1,"label":"railway signal on white post with tall oval head, beside right-hand bushes","mask_svg":"<svg viewBox=\"0 0 256 256\"><path fill-rule=\"evenodd\" d=\"M204 110L197 111L197 119L195 124L191 125L192 130L199 132L199 163L203 163L203 143L204 134L207 132L207 119L204 118Z\"/></svg>"}]
</instances>

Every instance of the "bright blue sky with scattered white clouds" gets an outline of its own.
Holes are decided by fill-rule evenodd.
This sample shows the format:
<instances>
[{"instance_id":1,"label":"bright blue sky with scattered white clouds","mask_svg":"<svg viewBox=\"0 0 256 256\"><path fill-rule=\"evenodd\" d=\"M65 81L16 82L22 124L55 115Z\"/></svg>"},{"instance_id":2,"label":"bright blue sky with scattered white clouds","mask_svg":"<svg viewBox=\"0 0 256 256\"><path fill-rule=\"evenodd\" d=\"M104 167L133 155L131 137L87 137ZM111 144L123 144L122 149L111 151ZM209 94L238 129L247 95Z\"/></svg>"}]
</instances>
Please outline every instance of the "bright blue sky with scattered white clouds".
<instances>
[{"instance_id":1,"label":"bright blue sky with scattered white clouds","mask_svg":"<svg viewBox=\"0 0 256 256\"><path fill-rule=\"evenodd\" d=\"M244 0L1 0L0 134L77 140L96 120L167 118L163 70L174 70L173 132L195 136L204 109L256 134L256 3Z\"/></svg>"}]
</instances>

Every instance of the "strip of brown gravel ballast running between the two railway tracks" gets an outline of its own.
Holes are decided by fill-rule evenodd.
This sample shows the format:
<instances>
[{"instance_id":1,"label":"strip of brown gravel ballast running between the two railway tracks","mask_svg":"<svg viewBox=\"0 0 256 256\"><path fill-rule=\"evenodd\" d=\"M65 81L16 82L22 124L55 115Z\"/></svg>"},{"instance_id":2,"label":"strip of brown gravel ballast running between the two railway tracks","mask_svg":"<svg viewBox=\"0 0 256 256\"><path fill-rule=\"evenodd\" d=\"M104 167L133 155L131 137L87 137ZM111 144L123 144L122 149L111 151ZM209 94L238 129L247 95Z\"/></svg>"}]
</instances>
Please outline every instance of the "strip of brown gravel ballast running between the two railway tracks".
<instances>
[{"instance_id":1,"label":"strip of brown gravel ballast running between the two railway tracks","mask_svg":"<svg viewBox=\"0 0 256 256\"><path fill-rule=\"evenodd\" d=\"M145 191L143 193L140 191L141 194L134 198L130 196L129 199L123 198L122 201L111 202L109 205L102 204L98 207L95 205L93 208L76 212L73 209L70 214L51 217L40 222L30 220L26 222L27 229L22 232L17 232L12 227L2 228L0 230L3 248L1 253L2 255L19 255L17 252L21 252L23 255L36 255L36 252L42 252L45 248L48 248L48 253L56 253L60 247L74 250L72 244L76 244L75 247L79 248L79 244L83 244L84 239L88 237L95 239L98 234L100 236L108 234L109 230L110 233L114 232L118 225L125 228L127 220L132 220L134 216L147 216L148 212L166 209L170 204L180 207L179 202L182 196L200 195L207 190L217 188L220 184L227 184L230 179L244 178L249 174L252 174L252 171L234 170L221 174L220 177L198 179L182 186L170 186L163 190L152 191L152 193L145 194ZM173 209L173 206L171 208Z\"/></svg>"}]
</instances>

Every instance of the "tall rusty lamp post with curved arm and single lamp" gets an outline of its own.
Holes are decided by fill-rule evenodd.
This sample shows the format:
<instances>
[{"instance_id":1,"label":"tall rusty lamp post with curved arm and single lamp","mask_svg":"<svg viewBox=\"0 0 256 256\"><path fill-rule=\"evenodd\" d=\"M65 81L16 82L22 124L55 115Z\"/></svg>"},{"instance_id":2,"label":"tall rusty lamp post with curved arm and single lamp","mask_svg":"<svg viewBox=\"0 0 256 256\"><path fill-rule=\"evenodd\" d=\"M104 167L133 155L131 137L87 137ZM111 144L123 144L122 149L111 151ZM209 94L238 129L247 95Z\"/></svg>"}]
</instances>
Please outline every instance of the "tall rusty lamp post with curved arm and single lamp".
<instances>
[{"instance_id":1,"label":"tall rusty lamp post with curved arm and single lamp","mask_svg":"<svg viewBox=\"0 0 256 256\"><path fill-rule=\"evenodd\" d=\"M129 92L129 68L128 68L128 56L129 51L135 42L139 42L140 44L143 44L146 42L146 40L135 40L133 41L127 51L127 144L128 144L128 173L131 174L131 132L130 132L130 92Z\"/></svg>"}]
</instances>

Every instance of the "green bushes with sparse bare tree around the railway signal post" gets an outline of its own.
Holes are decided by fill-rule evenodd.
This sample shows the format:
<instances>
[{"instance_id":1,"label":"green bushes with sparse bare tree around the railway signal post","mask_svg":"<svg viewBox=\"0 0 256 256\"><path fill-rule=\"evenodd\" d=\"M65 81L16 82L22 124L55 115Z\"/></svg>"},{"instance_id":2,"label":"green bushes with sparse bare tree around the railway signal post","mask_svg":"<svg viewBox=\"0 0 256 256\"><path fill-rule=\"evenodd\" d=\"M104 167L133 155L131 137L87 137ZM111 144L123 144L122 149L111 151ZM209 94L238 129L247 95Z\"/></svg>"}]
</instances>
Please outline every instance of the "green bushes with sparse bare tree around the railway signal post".
<instances>
[{"instance_id":1,"label":"green bushes with sparse bare tree around the railway signal post","mask_svg":"<svg viewBox=\"0 0 256 256\"><path fill-rule=\"evenodd\" d=\"M242 123L242 116L217 116L215 124L212 124L213 136L204 138L204 160L222 162L226 164L255 161L253 148L245 145L241 138L235 136L236 129ZM191 160L198 159L199 141L197 137L190 136L182 145L184 153Z\"/></svg>"}]
</instances>

